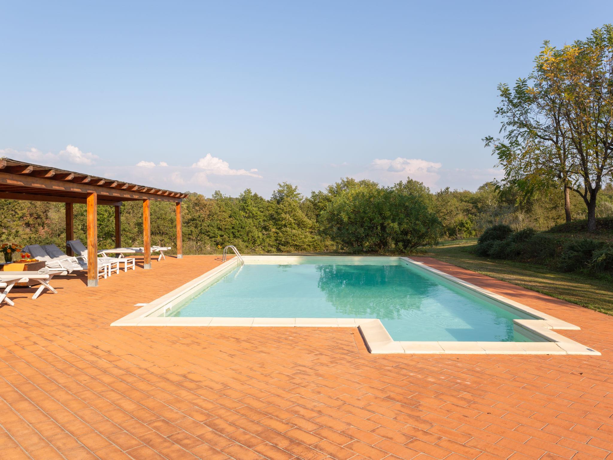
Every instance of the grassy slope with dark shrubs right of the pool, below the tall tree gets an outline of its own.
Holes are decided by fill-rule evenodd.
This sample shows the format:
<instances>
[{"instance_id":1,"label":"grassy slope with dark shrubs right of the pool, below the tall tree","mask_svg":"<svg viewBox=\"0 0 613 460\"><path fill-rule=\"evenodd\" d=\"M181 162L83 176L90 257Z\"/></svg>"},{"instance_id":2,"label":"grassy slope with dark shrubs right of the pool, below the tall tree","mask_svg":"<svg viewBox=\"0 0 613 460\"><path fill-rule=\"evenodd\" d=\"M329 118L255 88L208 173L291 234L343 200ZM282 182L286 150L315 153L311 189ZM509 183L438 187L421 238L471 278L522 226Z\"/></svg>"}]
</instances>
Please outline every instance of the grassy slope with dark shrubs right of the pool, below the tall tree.
<instances>
[{"instance_id":1,"label":"grassy slope with dark shrubs right of the pool, below the tall tree","mask_svg":"<svg viewBox=\"0 0 613 460\"><path fill-rule=\"evenodd\" d=\"M426 254L539 293L613 315L613 218L560 224L544 232L494 226L478 240L457 240Z\"/></svg>"}]
</instances>

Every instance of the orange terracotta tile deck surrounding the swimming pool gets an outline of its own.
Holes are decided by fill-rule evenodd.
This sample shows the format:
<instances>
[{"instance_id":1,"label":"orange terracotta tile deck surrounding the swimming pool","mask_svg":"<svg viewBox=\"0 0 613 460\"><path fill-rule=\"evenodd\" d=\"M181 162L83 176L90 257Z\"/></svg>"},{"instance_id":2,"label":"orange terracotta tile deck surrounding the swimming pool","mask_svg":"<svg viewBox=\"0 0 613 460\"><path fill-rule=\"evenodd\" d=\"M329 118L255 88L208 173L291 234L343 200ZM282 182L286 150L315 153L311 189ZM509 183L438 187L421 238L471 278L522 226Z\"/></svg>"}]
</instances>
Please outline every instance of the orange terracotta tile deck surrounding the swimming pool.
<instances>
[{"instance_id":1,"label":"orange terracotta tile deck surrounding the swimming pool","mask_svg":"<svg viewBox=\"0 0 613 460\"><path fill-rule=\"evenodd\" d=\"M0 458L613 459L613 317L433 259L603 356L369 355L357 329L111 328L219 264L0 308ZM17 294L17 295L16 295Z\"/></svg>"}]
</instances>

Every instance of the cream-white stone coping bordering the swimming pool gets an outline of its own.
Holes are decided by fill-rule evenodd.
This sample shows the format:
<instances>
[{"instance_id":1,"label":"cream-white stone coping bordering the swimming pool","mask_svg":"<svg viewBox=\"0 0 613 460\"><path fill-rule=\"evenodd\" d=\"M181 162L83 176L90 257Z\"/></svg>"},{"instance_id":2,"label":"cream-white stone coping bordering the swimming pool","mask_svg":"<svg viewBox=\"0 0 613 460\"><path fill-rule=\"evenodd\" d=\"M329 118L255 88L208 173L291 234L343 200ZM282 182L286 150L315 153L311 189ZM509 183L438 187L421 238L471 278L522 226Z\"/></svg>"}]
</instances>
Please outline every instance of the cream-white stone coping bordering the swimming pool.
<instances>
[{"instance_id":1,"label":"cream-white stone coping bordering the swimming pool","mask_svg":"<svg viewBox=\"0 0 613 460\"><path fill-rule=\"evenodd\" d=\"M245 259L247 264L296 264L304 261L305 258L313 257L326 258L327 263L343 264L359 263L365 258L365 256L243 256L243 259ZM197 293L207 283L215 281L224 273L234 269L238 264L237 258L229 259L218 267L209 270L153 302L137 304L142 305L142 307L115 321L111 326L357 328L364 339L368 351L374 354L600 355L598 351L552 331L552 329L581 329L574 326L574 324L558 320L558 318L547 315L547 313L539 312L527 305L512 301L507 297L492 293L487 289L480 288L407 257L376 257L376 259L382 263L385 259L400 259L430 274L444 278L447 282L454 283L457 288L467 291L476 297L496 301L506 309L519 310L519 312L534 316L538 319L513 320L514 327L538 335L547 340L547 342L400 342L392 339L381 321L372 318L202 318L158 316L164 314L166 310L172 309L174 305L177 305L192 294Z\"/></svg>"}]
</instances>

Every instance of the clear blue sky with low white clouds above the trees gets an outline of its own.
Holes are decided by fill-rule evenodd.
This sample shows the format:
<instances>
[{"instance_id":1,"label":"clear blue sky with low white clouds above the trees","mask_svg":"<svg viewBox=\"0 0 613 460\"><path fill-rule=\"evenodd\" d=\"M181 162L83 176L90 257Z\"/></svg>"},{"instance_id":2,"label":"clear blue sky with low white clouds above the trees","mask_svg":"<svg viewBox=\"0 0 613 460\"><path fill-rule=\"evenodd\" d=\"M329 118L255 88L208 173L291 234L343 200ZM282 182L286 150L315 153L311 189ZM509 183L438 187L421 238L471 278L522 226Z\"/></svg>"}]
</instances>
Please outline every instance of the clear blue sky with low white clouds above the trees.
<instances>
[{"instance_id":1,"label":"clear blue sky with low white clouds above the trees","mask_svg":"<svg viewBox=\"0 0 613 460\"><path fill-rule=\"evenodd\" d=\"M613 2L4 2L0 155L171 190L475 190L496 86ZM137 166L139 165L140 166Z\"/></svg>"}]
</instances>

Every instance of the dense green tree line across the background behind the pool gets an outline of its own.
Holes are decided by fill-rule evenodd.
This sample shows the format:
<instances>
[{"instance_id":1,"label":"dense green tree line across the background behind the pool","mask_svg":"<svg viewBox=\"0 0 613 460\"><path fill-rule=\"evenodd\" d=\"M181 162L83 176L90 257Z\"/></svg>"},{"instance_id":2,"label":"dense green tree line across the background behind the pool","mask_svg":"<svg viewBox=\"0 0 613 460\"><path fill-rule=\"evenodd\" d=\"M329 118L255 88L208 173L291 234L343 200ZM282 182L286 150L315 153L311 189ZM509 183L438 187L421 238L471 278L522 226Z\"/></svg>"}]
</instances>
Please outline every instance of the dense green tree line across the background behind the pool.
<instances>
[{"instance_id":1,"label":"dense green tree line across the background behind the pool","mask_svg":"<svg viewBox=\"0 0 613 460\"><path fill-rule=\"evenodd\" d=\"M407 253L440 239L479 236L495 224L516 230L548 229L564 220L555 188L524 196L513 186L485 183L476 191L445 188L432 193L408 178L393 186L344 178L304 196L289 183L270 198L247 189L237 197L189 193L183 201L183 252L221 253L234 244L245 253L338 252ZM571 217L587 217L579 196L571 196ZM613 187L604 188L595 209L613 217ZM0 242L20 245L66 241L64 205L0 200ZM85 205L74 205L75 238L86 241ZM115 247L114 210L98 207L98 247ZM141 246L142 203L121 207L123 245ZM173 203L151 202L151 243L176 242Z\"/></svg>"}]
</instances>

